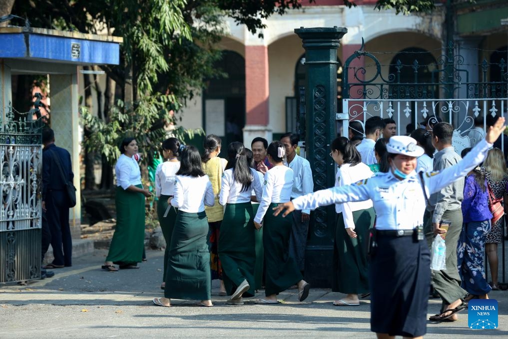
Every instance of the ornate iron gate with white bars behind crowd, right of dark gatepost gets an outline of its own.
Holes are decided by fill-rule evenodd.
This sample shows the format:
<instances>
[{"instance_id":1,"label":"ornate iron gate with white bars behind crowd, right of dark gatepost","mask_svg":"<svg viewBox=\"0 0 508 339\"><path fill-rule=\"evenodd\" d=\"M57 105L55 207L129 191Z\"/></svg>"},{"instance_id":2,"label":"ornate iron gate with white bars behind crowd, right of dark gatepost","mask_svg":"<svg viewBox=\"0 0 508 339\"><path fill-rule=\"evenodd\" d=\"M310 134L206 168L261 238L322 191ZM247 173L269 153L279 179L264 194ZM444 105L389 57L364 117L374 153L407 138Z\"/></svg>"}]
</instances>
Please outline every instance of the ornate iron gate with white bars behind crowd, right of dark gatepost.
<instances>
[{"instance_id":1,"label":"ornate iron gate with white bars behind crowd, right of dark gatepost","mask_svg":"<svg viewBox=\"0 0 508 339\"><path fill-rule=\"evenodd\" d=\"M479 137L474 119L487 115L506 115L508 73L504 58L498 63L468 64L460 48L450 43L432 67L422 69L415 59L404 64L400 59L393 65L380 65L377 58L362 48L349 57L344 65L342 114L343 134L348 122L365 122L370 116L395 120L399 135L405 134L407 124L418 128L421 122L438 119L451 122L456 128L454 146L460 151L474 144ZM363 58L362 66L350 66ZM392 71L392 72L390 72ZM411 74L403 80L402 74ZM503 145L504 146L504 145Z\"/></svg>"}]
</instances>

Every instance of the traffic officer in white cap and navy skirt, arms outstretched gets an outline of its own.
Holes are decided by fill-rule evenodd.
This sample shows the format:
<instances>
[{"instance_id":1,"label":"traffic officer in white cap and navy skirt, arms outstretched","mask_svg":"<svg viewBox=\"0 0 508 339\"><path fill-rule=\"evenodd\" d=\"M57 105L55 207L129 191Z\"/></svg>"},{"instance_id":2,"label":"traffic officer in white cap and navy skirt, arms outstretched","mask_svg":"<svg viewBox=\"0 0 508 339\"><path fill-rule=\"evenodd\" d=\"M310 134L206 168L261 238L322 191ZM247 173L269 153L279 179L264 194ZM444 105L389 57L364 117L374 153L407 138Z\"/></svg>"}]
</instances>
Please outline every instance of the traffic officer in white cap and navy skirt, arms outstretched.
<instances>
[{"instance_id":1,"label":"traffic officer in white cap and navy skirt, arms outstretched","mask_svg":"<svg viewBox=\"0 0 508 339\"><path fill-rule=\"evenodd\" d=\"M375 251L371 251L369 282L371 288L371 331L378 338L395 335L422 338L426 333L430 286L430 253L423 234L426 197L450 183L463 179L485 160L487 151L504 130L500 117L467 156L439 172L416 172L417 157L424 152L416 140L393 136L387 145L391 170L355 184L317 191L280 204L275 215L294 209L317 208L333 203L372 199L376 211ZM283 213L282 213L283 212ZM435 234L447 231L436 227ZM373 248L374 249L374 248ZM451 304L444 321L465 309Z\"/></svg>"}]
</instances>

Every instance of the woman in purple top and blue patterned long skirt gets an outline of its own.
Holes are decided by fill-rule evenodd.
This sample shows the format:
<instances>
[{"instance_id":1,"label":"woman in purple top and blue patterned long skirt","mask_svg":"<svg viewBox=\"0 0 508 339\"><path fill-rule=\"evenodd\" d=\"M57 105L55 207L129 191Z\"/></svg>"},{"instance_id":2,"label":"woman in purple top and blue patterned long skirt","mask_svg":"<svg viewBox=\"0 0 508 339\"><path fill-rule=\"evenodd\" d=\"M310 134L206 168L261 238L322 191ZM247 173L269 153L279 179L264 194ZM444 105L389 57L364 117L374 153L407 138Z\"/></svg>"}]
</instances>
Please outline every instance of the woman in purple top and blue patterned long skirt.
<instances>
[{"instance_id":1,"label":"woman in purple top and blue patterned long skirt","mask_svg":"<svg viewBox=\"0 0 508 339\"><path fill-rule=\"evenodd\" d=\"M464 149L461 157L464 158L470 150L471 148ZM492 219L488 194L485 172L479 167L470 171L464 180L463 224L457 242L457 266L462 281L461 287L469 293L465 301L472 298L488 299L487 293L491 291L485 279L483 262L485 240Z\"/></svg>"}]
</instances>

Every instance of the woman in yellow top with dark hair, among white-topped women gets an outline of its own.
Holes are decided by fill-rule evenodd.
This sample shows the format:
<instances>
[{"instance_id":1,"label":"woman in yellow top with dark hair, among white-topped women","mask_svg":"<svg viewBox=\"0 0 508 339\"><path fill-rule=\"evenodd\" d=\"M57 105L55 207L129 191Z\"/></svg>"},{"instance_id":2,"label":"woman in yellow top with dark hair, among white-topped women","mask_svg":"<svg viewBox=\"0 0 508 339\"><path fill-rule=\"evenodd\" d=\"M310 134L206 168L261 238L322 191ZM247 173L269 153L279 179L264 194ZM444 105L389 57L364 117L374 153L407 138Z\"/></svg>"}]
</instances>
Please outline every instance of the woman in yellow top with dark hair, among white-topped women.
<instances>
[{"instance_id":1,"label":"woman in yellow top with dark hair, among white-topped women","mask_svg":"<svg viewBox=\"0 0 508 339\"><path fill-rule=\"evenodd\" d=\"M224 281L222 279L222 267L218 257L217 242L219 238L220 224L223 220L224 207L218 203L218 197L220 194L220 178L228 161L226 159L219 158L221 140L219 137L213 134L206 136L204 143L204 153L201 157L203 172L210 178L210 182L213 188L213 194L215 196L215 204L213 207L205 207L206 217L208 218L208 225L210 231L208 233L208 243L210 244L210 268L212 274L212 280L219 279L219 295L225 296L226 289L224 288Z\"/></svg>"}]
</instances>

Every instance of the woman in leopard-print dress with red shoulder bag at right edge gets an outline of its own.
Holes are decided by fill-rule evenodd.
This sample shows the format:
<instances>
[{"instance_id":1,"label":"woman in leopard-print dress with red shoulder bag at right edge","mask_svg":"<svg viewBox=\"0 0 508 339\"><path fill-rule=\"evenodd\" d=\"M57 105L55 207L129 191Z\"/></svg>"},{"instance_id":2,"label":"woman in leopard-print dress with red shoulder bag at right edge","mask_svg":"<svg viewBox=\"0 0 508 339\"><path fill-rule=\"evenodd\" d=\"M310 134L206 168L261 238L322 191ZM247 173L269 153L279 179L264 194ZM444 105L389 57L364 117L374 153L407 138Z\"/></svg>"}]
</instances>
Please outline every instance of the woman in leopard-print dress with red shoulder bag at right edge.
<instances>
[{"instance_id":1,"label":"woman in leopard-print dress with red shoulder bag at right edge","mask_svg":"<svg viewBox=\"0 0 508 339\"><path fill-rule=\"evenodd\" d=\"M499 208L500 202L503 200L503 196L508 194L506 191L506 184L508 184L508 170L506 169L506 164L504 162L503 152L499 148L492 148L489 150L482 169L485 171L485 176L487 178L488 189L490 191L488 197L490 197L490 200L492 201L492 203L489 203L489 207L492 211L492 208ZM502 209L501 212L503 212ZM502 218L496 219L496 221L492 223L492 227L490 232L487 234L485 242L485 253L489 261L490 276L492 278L491 287L494 291L499 290L497 281L497 244L503 241L501 230L502 226Z\"/></svg>"}]
</instances>

